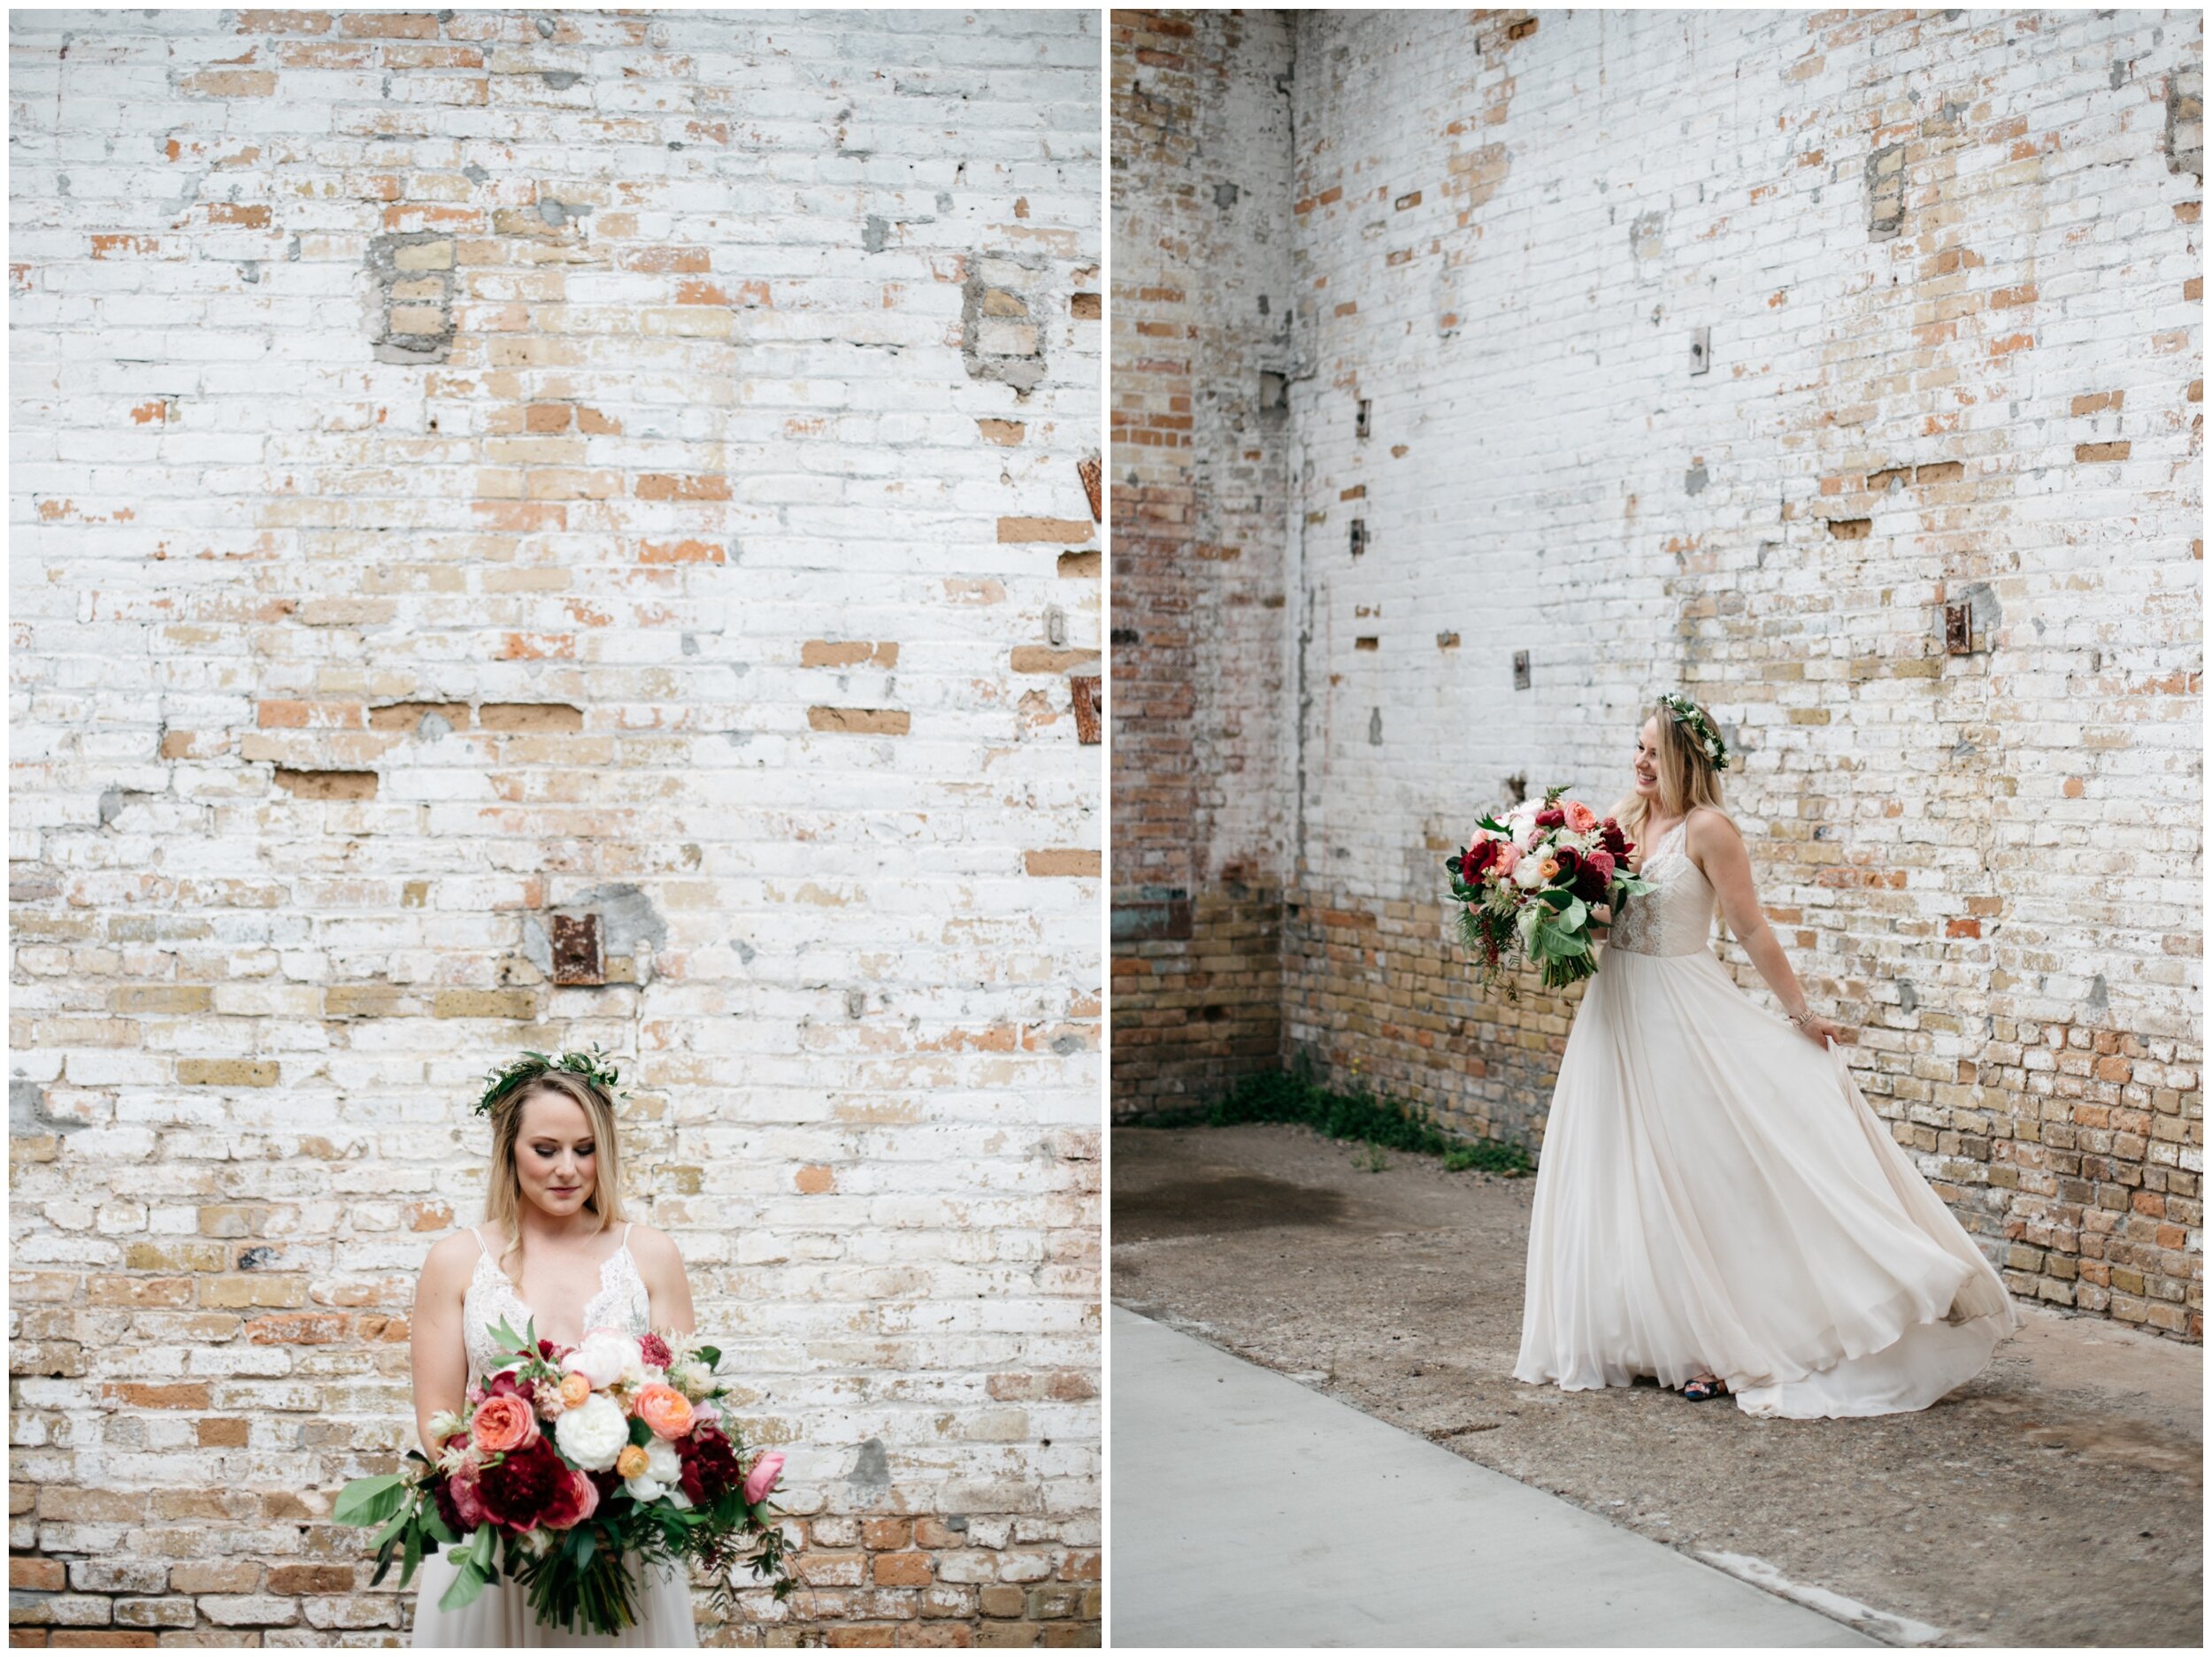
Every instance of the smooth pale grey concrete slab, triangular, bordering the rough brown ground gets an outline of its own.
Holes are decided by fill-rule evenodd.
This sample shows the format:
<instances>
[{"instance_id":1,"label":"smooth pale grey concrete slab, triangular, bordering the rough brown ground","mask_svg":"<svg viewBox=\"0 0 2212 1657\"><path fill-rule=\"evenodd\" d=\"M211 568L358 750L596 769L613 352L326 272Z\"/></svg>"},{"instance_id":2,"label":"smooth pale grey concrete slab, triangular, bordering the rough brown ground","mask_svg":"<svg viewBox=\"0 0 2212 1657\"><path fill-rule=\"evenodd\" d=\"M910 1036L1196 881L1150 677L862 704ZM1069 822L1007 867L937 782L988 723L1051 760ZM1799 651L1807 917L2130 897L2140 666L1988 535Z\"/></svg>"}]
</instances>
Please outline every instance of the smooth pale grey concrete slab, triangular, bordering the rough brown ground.
<instances>
[{"instance_id":1,"label":"smooth pale grey concrete slab, triangular, bordering the rough brown ground","mask_svg":"<svg viewBox=\"0 0 2212 1657\"><path fill-rule=\"evenodd\" d=\"M1203 1341L1113 1312L1115 1646L1871 1646Z\"/></svg>"}]
</instances>

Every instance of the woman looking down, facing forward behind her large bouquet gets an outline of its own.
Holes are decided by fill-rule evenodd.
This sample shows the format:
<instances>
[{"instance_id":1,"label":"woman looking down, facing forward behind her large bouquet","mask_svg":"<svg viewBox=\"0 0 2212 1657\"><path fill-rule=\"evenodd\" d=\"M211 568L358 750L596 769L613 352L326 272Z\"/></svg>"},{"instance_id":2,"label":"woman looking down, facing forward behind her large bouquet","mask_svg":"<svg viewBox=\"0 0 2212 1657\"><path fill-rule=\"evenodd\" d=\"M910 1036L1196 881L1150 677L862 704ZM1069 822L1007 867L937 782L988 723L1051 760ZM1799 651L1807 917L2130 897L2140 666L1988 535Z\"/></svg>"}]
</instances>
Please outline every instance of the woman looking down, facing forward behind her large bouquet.
<instances>
[{"instance_id":1,"label":"woman looking down, facing forward behind her large bouquet","mask_svg":"<svg viewBox=\"0 0 2212 1657\"><path fill-rule=\"evenodd\" d=\"M571 1066L571 1069L562 1069ZM414 1405L422 1451L440 1445L431 1418L458 1411L465 1389L498 1369L491 1327L577 1345L586 1330L692 1330L684 1259L664 1232L622 1219L622 1157L615 1142L613 1071L580 1053L555 1066L511 1064L487 1095L491 1181L484 1223L453 1232L422 1261L414 1307ZM482 1106L480 1106L482 1108ZM619 1230L617 1230L619 1226ZM451 1551L422 1562L416 1646L697 1646L690 1582L681 1562L644 1571L637 1622L619 1635L540 1624L520 1582L493 1577L460 1611L438 1599L453 1584Z\"/></svg>"}]
</instances>

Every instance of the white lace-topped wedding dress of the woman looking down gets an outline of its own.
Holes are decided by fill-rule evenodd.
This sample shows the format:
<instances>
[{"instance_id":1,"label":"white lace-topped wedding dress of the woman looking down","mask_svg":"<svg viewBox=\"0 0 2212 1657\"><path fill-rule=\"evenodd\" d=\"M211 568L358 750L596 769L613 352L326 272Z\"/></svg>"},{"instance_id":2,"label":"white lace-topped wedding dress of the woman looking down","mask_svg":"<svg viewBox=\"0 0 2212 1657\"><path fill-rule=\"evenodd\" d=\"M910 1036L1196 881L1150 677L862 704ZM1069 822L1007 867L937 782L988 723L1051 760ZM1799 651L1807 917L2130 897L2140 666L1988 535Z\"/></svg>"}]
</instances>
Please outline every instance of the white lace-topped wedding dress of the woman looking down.
<instances>
[{"instance_id":1,"label":"white lace-topped wedding dress of the woman looking down","mask_svg":"<svg viewBox=\"0 0 2212 1657\"><path fill-rule=\"evenodd\" d=\"M469 1347L469 1383L480 1383L504 1361L500 1343L491 1336L491 1325L507 1319L515 1334L522 1334L529 1305L515 1292L507 1272L491 1259L482 1232L476 1234L476 1274L460 1301L460 1334ZM599 1263L599 1292L584 1303L584 1330L624 1330L644 1334L650 1327L650 1301L644 1279L637 1276L637 1261L630 1259L630 1230L622 1230L622 1248ZM540 1330L540 1334L544 1334ZM453 1586L458 1569L449 1551L422 1560L416 1582L422 1593L416 1599L416 1646L460 1646L482 1650L489 1646L697 1646L699 1630L692 1624L690 1577L681 1562L659 1571L639 1566L630 1555L630 1580L637 1584L637 1622L619 1635L549 1628L531 1615L529 1591L511 1577L493 1577L460 1611L440 1611L438 1599Z\"/></svg>"}]
</instances>

